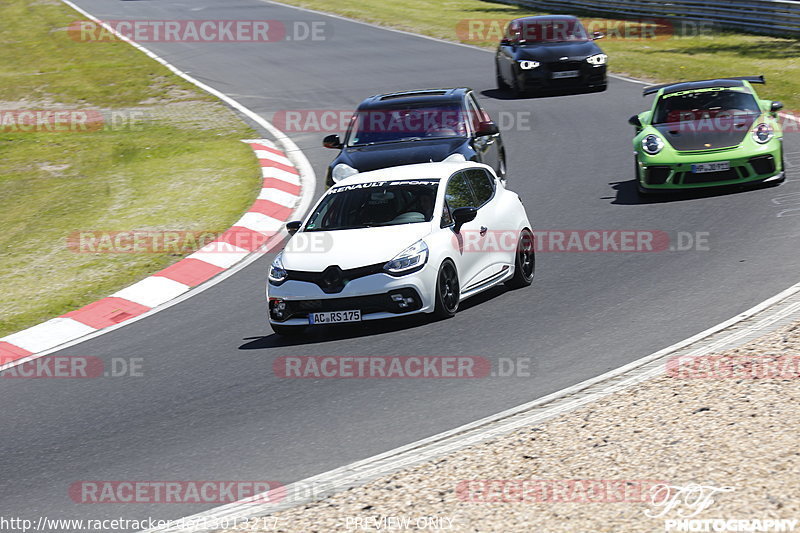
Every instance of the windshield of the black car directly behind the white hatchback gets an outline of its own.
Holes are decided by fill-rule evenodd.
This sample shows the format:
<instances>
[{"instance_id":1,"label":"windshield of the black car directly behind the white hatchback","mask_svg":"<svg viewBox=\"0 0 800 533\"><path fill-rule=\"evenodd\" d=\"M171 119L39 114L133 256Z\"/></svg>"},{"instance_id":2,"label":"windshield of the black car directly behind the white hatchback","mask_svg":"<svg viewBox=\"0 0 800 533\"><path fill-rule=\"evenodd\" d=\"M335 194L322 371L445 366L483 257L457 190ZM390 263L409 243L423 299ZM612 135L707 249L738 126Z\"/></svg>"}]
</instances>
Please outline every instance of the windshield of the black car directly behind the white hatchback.
<instances>
[{"instance_id":1,"label":"windshield of the black car directly behind the white hatchback","mask_svg":"<svg viewBox=\"0 0 800 533\"><path fill-rule=\"evenodd\" d=\"M356 113L348 146L465 137L466 116L459 104L391 107Z\"/></svg>"}]
</instances>

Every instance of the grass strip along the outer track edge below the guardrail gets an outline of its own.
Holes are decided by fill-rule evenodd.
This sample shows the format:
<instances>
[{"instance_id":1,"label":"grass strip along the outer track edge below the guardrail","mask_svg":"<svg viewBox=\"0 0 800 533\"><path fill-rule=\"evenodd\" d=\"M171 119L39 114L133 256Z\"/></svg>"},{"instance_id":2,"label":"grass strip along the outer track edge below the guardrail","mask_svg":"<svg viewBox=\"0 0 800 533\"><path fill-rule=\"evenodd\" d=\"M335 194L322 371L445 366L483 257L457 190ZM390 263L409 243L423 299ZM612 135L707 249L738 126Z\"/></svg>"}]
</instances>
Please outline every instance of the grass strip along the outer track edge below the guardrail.
<instances>
[{"instance_id":1,"label":"grass strip along the outer track edge below the guardrail","mask_svg":"<svg viewBox=\"0 0 800 533\"><path fill-rule=\"evenodd\" d=\"M497 46L500 32L510 19L545 14L481 0L283 1L489 49ZM781 100L787 109L800 110L800 40L707 32L693 25L662 25L652 32L655 38L642 38L642 32L631 28L630 22L590 15L581 19L587 27L608 30L608 38L598 43L609 55L612 72L654 82L764 74L769 85L760 91L761 97ZM470 20L476 21L474 32L469 31Z\"/></svg>"}]
</instances>

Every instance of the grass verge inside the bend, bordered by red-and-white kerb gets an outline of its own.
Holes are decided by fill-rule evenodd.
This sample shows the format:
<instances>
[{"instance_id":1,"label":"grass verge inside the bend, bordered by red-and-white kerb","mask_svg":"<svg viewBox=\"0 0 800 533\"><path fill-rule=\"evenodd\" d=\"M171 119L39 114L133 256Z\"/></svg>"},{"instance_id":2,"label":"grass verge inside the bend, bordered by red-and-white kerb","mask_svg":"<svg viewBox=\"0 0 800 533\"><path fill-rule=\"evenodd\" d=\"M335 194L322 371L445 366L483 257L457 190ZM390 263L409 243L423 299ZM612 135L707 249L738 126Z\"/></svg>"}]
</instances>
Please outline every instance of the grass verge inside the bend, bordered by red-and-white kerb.
<instances>
[{"instance_id":1,"label":"grass verge inside the bend, bordered by red-and-white kerb","mask_svg":"<svg viewBox=\"0 0 800 533\"><path fill-rule=\"evenodd\" d=\"M0 4L0 336L182 257L76 253L70 233L222 231L260 186L240 142L252 129L128 44L71 39L80 18L55 0ZM44 131L20 110L103 120Z\"/></svg>"}]
</instances>

